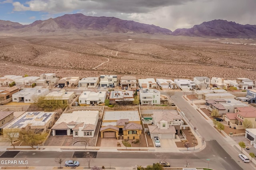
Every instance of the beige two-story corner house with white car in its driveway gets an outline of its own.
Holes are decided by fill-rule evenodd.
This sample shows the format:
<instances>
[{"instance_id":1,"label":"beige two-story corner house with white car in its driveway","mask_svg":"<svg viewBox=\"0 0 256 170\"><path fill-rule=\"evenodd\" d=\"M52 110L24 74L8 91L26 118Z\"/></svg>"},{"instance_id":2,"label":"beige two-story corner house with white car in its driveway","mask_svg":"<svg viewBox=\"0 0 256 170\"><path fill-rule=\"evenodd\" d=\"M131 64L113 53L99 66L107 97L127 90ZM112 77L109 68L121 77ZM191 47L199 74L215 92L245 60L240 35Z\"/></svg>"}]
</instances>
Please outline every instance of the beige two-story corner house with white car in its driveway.
<instances>
[{"instance_id":1,"label":"beige two-story corner house with white car in its driveway","mask_svg":"<svg viewBox=\"0 0 256 170\"><path fill-rule=\"evenodd\" d=\"M175 139L184 124L182 116L176 111L153 111L154 125L148 125L151 139Z\"/></svg>"}]
</instances>

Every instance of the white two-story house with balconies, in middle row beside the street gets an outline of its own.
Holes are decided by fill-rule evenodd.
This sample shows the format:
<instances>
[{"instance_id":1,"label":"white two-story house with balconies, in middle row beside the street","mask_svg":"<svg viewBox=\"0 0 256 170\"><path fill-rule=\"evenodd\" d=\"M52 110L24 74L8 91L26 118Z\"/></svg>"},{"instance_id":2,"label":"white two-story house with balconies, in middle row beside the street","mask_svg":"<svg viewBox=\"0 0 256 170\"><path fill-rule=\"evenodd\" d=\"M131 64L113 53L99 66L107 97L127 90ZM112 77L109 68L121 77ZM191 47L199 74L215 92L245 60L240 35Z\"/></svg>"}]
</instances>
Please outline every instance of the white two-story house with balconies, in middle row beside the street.
<instances>
[{"instance_id":1,"label":"white two-story house with balconies, in middle row beside the street","mask_svg":"<svg viewBox=\"0 0 256 170\"><path fill-rule=\"evenodd\" d=\"M160 104L160 92L156 89L141 89L140 90L141 105Z\"/></svg>"}]
</instances>

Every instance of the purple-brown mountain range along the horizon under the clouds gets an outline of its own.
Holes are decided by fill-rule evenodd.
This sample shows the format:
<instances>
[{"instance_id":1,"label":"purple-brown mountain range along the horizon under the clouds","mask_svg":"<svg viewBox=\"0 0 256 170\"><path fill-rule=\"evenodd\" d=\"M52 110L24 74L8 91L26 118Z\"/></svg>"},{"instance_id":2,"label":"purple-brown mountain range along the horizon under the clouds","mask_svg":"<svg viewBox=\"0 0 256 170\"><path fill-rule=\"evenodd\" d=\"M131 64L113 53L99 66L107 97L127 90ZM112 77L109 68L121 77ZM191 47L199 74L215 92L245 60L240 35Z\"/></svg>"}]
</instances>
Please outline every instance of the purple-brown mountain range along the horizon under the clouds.
<instances>
[{"instance_id":1,"label":"purple-brown mountain range along the horizon under the clouds","mask_svg":"<svg viewBox=\"0 0 256 170\"><path fill-rule=\"evenodd\" d=\"M232 21L212 20L171 31L155 25L121 20L115 17L93 17L83 14L65 14L57 18L34 21L29 25L0 20L0 33L48 34L83 33L88 30L103 33L162 33L190 37L256 38L256 25L241 25Z\"/></svg>"}]
</instances>

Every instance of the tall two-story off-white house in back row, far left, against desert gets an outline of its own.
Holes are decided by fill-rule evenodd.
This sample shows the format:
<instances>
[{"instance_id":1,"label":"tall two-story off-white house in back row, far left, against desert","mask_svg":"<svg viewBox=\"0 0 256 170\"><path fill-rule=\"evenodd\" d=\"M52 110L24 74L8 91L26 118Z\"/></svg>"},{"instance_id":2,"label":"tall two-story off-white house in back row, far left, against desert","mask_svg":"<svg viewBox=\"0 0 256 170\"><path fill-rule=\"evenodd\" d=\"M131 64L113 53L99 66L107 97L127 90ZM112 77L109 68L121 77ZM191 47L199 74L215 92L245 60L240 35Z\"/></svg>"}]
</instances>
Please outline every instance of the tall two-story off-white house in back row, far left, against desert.
<instances>
[{"instance_id":1,"label":"tall two-story off-white house in back row, far left, against desert","mask_svg":"<svg viewBox=\"0 0 256 170\"><path fill-rule=\"evenodd\" d=\"M40 79L36 80L36 86L54 86L58 83L59 78L55 73L44 73Z\"/></svg>"}]
</instances>

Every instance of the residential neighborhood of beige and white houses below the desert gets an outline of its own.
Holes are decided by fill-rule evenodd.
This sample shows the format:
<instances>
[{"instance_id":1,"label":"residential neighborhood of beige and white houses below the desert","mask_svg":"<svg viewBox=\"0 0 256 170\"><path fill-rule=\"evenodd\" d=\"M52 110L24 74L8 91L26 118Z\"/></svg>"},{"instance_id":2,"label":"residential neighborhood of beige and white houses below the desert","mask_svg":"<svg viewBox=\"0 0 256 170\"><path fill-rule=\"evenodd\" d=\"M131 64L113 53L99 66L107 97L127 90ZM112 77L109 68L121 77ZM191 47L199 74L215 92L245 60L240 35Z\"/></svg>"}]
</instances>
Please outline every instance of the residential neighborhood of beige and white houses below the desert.
<instances>
[{"instance_id":1,"label":"residential neighborhood of beige and white houses below the desert","mask_svg":"<svg viewBox=\"0 0 256 170\"><path fill-rule=\"evenodd\" d=\"M13 82L15 85L10 87ZM36 86L32 87L33 83ZM22 129L48 134L37 147L86 145L100 149L122 148L130 143L131 148L199 150L205 146L202 136L190 124L188 113L173 102L172 96L177 93L209 124L213 120L223 124L220 133L233 137L243 131L241 135L250 143L248 147L256 149L254 86L255 82L246 78L224 80L206 76L194 77L193 81L116 75L58 78L53 73L24 78L4 76L0 102L5 107L0 106L0 129L4 138L13 133L20 143ZM212 115L213 112L217 114ZM60 139L63 141L54 143Z\"/></svg>"}]
</instances>

